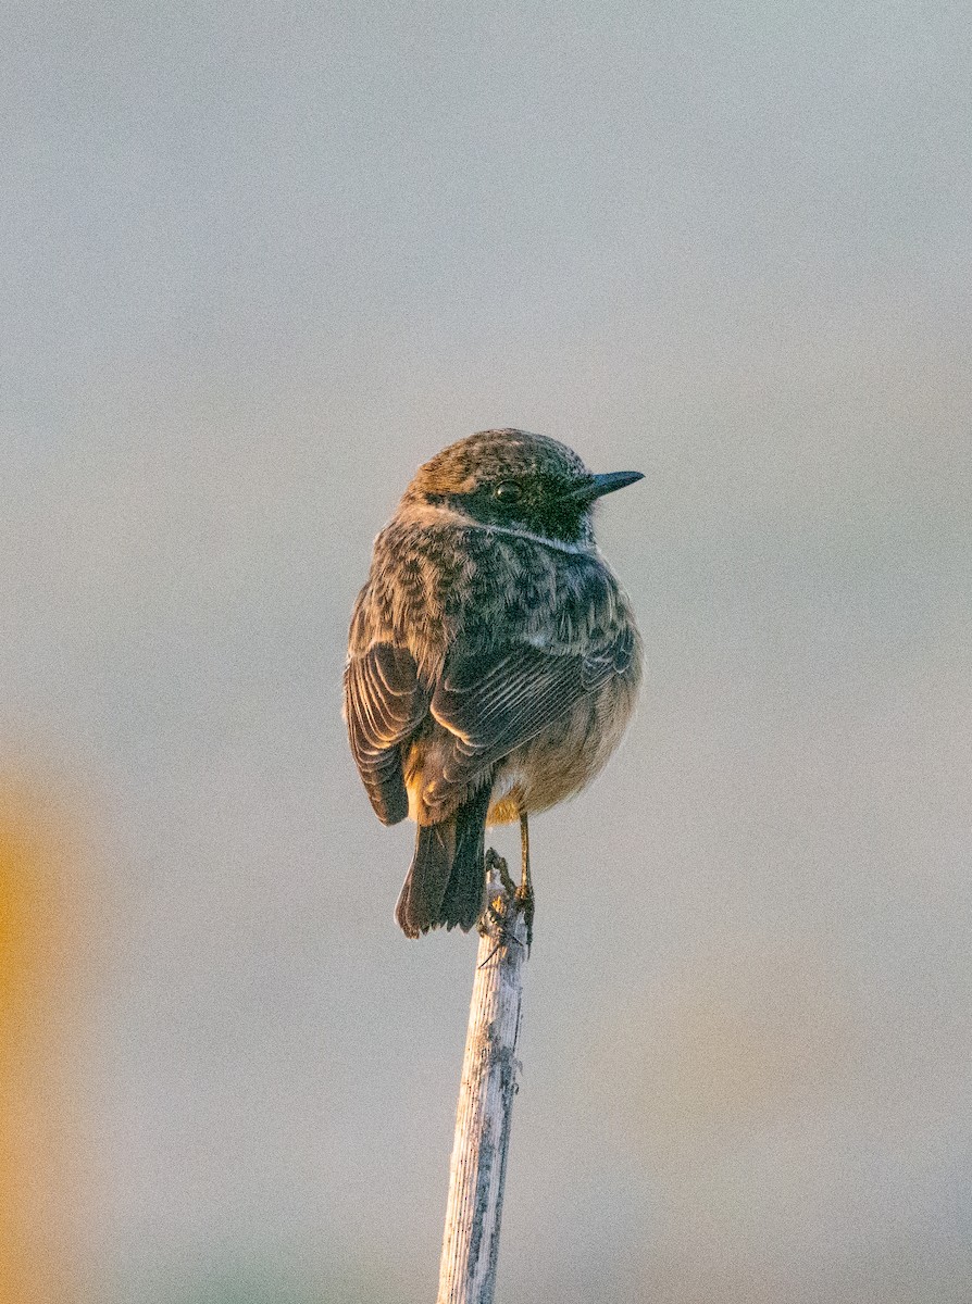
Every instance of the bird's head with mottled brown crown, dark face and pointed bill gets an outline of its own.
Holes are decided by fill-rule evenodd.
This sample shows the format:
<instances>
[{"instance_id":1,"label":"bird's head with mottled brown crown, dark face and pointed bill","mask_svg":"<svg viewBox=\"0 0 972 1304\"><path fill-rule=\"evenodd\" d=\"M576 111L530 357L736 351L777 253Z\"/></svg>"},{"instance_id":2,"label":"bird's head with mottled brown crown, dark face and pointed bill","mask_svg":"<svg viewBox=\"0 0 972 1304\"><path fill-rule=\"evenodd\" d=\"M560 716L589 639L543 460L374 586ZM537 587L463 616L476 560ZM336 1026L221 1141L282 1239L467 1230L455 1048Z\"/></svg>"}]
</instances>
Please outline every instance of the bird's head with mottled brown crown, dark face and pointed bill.
<instances>
[{"instance_id":1,"label":"bird's head with mottled brown crown, dark face and pointed bill","mask_svg":"<svg viewBox=\"0 0 972 1304\"><path fill-rule=\"evenodd\" d=\"M480 526L562 544L592 542L598 498L639 471L594 475L566 445L527 430L480 430L419 467L403 502L446 507Z\"/></svg>"}]
</instances>

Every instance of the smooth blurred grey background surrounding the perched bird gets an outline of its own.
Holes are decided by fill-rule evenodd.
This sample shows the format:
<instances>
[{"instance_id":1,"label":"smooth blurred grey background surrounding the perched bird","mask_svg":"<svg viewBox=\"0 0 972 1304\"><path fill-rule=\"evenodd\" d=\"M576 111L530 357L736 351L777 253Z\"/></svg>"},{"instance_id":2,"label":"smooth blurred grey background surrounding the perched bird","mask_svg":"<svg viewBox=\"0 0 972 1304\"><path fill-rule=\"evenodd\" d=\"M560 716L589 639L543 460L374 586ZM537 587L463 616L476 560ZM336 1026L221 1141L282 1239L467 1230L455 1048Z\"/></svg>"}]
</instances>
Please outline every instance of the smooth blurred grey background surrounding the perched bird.
<instances>
[{"instance_id":1,"label":"smooth blurred grey background surrounding the perched bird","mask_svg":"<svg viewBox=\"0 0 972 1304\"><path fill-rule=\"evenodd\" d=\"M339 681L508 424L646 472L647 675L534 829L501 1297L967 1300L967 5L4 26L0 759L99 862L98 1304L434 1292L475 944L394 927Z\"/></svg>"}]
</instances>

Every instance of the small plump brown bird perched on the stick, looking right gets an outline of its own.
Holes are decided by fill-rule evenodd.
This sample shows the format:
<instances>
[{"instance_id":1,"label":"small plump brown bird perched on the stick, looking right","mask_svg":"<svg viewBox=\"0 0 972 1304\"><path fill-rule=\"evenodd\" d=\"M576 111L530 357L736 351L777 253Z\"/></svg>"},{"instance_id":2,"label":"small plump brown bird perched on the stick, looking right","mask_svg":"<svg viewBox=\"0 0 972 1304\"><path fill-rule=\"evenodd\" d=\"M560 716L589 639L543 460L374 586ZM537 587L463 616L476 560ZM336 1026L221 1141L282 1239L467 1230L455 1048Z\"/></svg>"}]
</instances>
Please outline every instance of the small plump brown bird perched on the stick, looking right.
<instances>
[{"instance_id":1,"label":"small plump brown bird perched on the stick, looking right","mask_svg":"<svg viewBox=\"0 0 972 1304\"><path fill-rule=\"evenodd\" d=\"M344 717L378 819L419 828L395 918L471 928L484 828L579 792L634 707L641 640L594 541L592 475L556 439L483 430L419 468L374 541L351 618Z\"/></svg>"}]
</instances>

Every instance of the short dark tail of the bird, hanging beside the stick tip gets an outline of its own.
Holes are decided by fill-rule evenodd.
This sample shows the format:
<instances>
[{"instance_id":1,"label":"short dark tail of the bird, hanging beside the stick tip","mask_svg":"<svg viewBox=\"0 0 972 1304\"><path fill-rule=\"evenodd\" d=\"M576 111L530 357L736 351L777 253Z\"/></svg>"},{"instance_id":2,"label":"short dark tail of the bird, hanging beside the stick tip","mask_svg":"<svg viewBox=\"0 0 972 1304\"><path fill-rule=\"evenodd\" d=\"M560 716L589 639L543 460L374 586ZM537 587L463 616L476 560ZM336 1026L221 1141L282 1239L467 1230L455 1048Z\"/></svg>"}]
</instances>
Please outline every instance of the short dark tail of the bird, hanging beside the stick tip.
<instances>
[{"instance_id":1,"label":"short dark tail of the bird, hanging beside the stick tip","mask_svg":"<svg viewBox=\"0 0 972 1304\"><path fill-rule=\"evenodd\" d=\"M485 816L492 784L438 824L419 825L415 855L402 885L395 919L410 938L445 925L463 932L483 913Z\"/></svg>"}]
</instances>

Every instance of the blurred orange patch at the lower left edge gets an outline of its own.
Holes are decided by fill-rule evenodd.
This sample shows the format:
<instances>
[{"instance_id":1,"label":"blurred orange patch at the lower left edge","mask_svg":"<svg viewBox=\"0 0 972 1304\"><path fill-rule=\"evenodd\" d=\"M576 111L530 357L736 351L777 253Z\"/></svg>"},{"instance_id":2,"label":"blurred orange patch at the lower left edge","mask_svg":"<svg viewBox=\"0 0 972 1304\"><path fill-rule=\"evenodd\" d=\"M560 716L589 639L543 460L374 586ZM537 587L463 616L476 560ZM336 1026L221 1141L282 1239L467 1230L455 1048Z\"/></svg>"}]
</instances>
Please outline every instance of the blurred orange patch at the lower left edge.
<instances>
[{"instance_id":1,"label":"blurred orange patch at the lower left edge","mask_svg":"<svg viewBox=\"0 0 972 1304\"><path fill-rule=\"evenodd\" d=\"M0 1301L78 1299L82 1185L72 1031L84 998L80 822L0 771Z\"/></svg>"}]
</instances>

